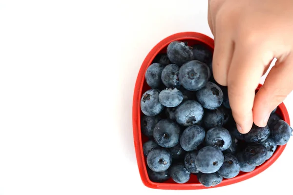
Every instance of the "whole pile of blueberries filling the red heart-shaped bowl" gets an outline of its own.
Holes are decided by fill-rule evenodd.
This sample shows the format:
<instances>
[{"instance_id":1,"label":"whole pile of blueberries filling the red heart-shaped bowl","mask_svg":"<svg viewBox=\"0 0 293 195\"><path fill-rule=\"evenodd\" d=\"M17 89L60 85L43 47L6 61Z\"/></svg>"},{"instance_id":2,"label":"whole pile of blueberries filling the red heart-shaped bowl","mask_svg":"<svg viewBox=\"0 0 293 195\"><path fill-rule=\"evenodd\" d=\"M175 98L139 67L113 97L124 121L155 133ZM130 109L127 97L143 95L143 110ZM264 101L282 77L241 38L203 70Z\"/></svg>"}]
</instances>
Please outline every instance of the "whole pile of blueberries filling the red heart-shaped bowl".
<instances>
[{"instance_id":1,"label":"whole pile of blueberries filling the red heart-shaped bowl","mask_svg":"<svg viewBox=\"0 0 293 195\"><path fill-rule=\"evenodd\" d=\"M141 130L148 177L205 187L251 172L289 141L292 128L272 112L266 127L241 134L232 117L228 88L212 76L212 53L202 44L173 41L147 68L150 87L141 98Z\"/></svg>"}]
</instances>

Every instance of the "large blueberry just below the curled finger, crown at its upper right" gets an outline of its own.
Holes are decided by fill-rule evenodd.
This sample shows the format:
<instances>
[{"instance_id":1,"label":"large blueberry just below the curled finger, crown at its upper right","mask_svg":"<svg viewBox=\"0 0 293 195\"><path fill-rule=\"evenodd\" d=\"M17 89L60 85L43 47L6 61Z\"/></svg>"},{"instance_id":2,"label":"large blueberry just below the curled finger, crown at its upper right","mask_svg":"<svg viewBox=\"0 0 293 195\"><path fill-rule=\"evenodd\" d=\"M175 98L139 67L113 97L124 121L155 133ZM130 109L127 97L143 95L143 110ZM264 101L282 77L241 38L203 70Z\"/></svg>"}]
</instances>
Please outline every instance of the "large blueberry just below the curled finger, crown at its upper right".
<instances>
[{"instance_id":1,"label":"large blueberry just below the curled finger, crown at its upper right","mask_svg":"<svg viewBox=\"0 0 293 195\"><path fill-rule=\"evenodd\" d=\"M223 102L223 92L221 88L213 82L208 82L195 94L201 105L209 110L217 109Z\"/></svg>"}]
</instances>

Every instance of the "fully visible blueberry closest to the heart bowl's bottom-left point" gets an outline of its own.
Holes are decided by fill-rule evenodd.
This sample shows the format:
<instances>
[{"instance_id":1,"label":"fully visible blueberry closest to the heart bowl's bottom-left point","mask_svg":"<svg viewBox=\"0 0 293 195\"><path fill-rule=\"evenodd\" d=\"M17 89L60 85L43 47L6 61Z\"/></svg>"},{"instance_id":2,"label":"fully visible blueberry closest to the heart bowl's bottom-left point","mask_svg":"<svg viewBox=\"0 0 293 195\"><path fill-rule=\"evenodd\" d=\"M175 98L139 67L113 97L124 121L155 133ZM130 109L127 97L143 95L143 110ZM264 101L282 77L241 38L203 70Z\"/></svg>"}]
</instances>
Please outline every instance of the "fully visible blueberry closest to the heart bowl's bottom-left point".
<instances>
[{"instance_id":1,"label":"fully visible blueberry closest to the heart bowl's bottom-left point","mask_svg":"<svg viewBox=\"0 0 293 195\"><path fill-rule=\"evenodd\" d=\"M154 172L164 172L172 164L172 155L165 148L155 148L146 156L147 166Z\"/></svg>"}]
</instances>

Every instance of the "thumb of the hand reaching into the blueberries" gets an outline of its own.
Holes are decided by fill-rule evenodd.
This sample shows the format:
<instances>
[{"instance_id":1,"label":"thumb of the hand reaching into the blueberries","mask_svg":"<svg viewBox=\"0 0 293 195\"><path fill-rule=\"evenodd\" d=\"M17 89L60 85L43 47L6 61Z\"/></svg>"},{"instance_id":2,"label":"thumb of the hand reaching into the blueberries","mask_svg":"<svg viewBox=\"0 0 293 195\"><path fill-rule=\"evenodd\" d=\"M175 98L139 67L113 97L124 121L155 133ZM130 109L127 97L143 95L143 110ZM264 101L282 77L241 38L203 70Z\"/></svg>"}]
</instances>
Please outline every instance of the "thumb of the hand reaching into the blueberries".
<instances>
[{"instance_id":1,"label":"thumb of the hand reaching into the blueberries","mask_svg":"<svg viewBox=\"0 0 293 195\"><path fill-rule=\"evenodd\" d=\"M266 126L272 111L291 93L293 90L292 75L293 54L282 61L276 61L254 98L252 112L255 125Z\"/></svg>"}]
</instances>

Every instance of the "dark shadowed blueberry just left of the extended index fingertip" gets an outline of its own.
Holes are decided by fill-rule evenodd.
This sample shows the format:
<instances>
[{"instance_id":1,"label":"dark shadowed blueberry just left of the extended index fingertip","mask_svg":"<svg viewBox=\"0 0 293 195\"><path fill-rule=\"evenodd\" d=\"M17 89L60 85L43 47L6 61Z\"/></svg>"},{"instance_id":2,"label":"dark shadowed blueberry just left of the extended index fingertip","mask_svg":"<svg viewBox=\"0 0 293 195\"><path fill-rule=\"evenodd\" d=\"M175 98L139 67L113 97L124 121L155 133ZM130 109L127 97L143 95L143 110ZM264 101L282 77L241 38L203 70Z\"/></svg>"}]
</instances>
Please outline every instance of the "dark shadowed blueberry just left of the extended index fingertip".
<instances>
[{"instance_id":1,"label":"dark shadowed blueberry just left of the extended index fingertip","mask_svg":"<svg viewBox=\"0 0 293 195\"><path fill-rule=\"evenodd\" d=\"M224 113L220 109L205 110L203 122L207 129L220 127L224 124Z\"/></svg>"}]
</instances>

